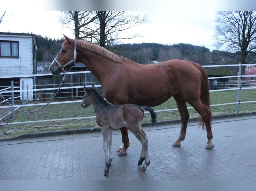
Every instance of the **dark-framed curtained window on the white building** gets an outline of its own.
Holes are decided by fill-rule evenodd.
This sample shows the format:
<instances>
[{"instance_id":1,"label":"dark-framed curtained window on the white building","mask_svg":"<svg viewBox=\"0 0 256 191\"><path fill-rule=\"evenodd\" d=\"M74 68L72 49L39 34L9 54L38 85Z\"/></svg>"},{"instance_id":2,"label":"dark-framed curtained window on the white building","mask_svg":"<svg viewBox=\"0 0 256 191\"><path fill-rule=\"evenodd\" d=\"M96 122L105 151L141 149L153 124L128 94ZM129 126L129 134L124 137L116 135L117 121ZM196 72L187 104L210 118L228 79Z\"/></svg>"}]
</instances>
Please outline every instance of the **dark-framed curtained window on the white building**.
<instances>
[{"instance_id":1,"label":"dark-framed curtained window on the white building","mask_svg":"<svg viewBox=\"0 0 256 191\"><path fill-rule=\"evenodd\" d=\"M0 41L0 58L19 58L19 42Z\"/></svg>"}]
</instances>

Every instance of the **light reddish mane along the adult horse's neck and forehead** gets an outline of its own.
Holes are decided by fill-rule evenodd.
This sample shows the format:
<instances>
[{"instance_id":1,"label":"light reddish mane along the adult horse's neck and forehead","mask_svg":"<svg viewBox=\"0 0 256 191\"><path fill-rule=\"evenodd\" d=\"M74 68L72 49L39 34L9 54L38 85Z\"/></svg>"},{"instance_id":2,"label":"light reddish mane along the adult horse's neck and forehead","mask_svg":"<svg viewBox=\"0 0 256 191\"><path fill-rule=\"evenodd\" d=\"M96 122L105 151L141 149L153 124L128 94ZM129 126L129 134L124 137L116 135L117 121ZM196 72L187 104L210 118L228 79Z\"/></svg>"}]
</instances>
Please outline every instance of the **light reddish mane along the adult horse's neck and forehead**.
<instances>
[{"instance_id":1,"label":"light reddish mane along the adult horse's neck and forehead","mask_svg":"<svg viewBox=\"0 0 256 191\"><path fill-rule=\"evenodd\" d=\"M89 43L89 42L86 42L86 41L83 41L83 40L76 40L76 41L77 41L77 46L79 46L82 49L87 49L89 51L92 51L96 54L99 54L99 55L101 55L105 58L108 58L108 59L110 59L114 62L117 62L117 63L122 63L123 62L123 59L124 59L123 57L117 56L116 54L110 52L109 50L107 50L107 49L105 49L105 48L103 48L99 45L95 45L95 44L92 44L92 43Z\"/></svg>"}]
</instances>

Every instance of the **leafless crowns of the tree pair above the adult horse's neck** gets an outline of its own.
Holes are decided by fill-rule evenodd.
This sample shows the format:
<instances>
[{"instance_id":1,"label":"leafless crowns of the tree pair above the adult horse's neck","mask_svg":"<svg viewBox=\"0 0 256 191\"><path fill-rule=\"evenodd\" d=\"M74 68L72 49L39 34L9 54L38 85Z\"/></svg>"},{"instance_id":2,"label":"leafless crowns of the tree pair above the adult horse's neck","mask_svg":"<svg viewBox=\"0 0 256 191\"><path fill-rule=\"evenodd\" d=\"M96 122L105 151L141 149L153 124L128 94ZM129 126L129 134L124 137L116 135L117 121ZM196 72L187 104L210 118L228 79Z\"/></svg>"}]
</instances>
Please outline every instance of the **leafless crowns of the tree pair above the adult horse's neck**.
<instances>
[{"instance_id":1,"label":"leafless crowns of the tree pair above the adult horse's neck","mask_svg":"<svg viewBox=\"0 0 256 191\"><path fill-rule=\"evenodd\" d=\"M122 36L127 29L147 22L146 16L127 14L126 11L62 11L60 22L64 26L73 23L76 39L83 39L109 47L122 39L140 36L138 33L129 37Z\"/></svg>"}]
</instances>

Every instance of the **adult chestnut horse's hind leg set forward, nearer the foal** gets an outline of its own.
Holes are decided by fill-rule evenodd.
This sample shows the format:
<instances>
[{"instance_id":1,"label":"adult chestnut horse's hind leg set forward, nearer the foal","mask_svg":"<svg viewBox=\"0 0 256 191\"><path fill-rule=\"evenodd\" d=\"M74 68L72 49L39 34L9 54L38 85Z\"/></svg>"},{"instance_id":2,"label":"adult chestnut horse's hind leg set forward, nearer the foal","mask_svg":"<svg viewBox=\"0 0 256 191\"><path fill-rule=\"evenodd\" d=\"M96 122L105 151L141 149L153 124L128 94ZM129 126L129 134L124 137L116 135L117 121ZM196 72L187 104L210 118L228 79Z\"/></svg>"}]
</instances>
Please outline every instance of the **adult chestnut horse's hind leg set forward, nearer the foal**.
<instances>
[{"instance_id":1,"label":"adult chestnut horse's hind leg set forward, nearer the foal","mask_svg":"<svg viewBox=\"0 0 256 191\"><path fill-rule=\"evenodd\" d=\"M189 113L187 111L186 101L183 100L180 97L180 95L175 94L173 95L173 98L175 99L178 110L179 110L180 119L181 119L181 128L180 128L179 138L172 144L172 146L178 147L180 146L180 142L183 141L186 136Z\"/></svg>"}]
</instances>

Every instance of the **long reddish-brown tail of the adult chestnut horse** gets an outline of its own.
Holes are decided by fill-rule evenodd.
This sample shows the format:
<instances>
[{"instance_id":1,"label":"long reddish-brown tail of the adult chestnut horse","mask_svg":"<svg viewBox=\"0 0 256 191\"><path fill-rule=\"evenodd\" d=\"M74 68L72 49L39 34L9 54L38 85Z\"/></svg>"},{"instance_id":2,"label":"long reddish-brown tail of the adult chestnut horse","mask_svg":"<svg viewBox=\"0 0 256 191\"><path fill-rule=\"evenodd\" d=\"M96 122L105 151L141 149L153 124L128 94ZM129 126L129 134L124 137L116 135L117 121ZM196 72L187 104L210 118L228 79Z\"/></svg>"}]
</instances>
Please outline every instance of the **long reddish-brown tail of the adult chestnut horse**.
<instances>
[{"instance_id":1,"label":"long reddish-brown tail of the adult chestnut horse","mask_svg":"<svg viewBox=\"0 0 256 191\"><path fill-rule=\"evenodd\" d=\"M210 92L209 92L208 74L207 74L207 71L200 64L195 64L195 67L202 74L200 99L206 107L206 110L207 110L206 114L208 115L210 123L211 123L213 117L212 117L212 111L210 108ZM202 117L200 117L200 125L202 125L202 128L205 129L205 122Z\"/></svg>"}]
</instances>

